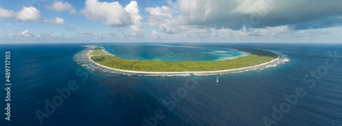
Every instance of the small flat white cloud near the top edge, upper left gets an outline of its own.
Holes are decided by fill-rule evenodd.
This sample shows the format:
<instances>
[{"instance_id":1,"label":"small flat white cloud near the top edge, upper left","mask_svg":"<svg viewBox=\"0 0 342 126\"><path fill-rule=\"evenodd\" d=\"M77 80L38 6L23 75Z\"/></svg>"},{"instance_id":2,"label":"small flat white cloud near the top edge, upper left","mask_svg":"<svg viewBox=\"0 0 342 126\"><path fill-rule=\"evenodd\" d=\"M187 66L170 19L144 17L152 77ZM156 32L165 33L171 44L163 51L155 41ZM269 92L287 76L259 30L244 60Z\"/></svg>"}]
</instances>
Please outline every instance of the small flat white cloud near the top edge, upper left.
<instances>
[{"instance_id":1,"label":"small flat white cloud near the top edge, upper left","mask_svg":"<svg viewBox=\"0 0 342 126\"><path fill-rule=\"evenodd\" d=\"M68 2L63 3L62 1L55 1L52 5L44 5L48 10L55 10L57 12L69 11L70 14L77 14L73 5Z\"/></svg>"}]
</instances>

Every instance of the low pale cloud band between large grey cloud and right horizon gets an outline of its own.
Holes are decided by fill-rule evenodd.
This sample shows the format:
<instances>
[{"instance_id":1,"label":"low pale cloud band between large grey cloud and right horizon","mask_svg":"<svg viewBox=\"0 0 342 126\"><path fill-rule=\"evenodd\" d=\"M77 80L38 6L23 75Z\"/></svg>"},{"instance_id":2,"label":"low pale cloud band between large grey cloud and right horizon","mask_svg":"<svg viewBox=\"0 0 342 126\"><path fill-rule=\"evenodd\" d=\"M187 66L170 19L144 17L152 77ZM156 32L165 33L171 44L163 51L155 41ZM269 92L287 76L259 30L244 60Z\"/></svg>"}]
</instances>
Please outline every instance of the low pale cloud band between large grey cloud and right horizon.
<instances>
[{"instance_id":1,"label":"low pale cloud band between large grey cloud and right horizon","mask_svg":"<svg viewBox=\"0 0 342 126\"><path fill-rule=\"evenodd\" d=\"M340 38L342 36L342 27L336 28L325 28L325 29L305 29L305 30L293 30L290 27L282 26L282 27L266 27L266 28L257 28L257 29L246 29L244 27L240 30L233 29L190 29L188 31L183 31L181 33L162 33L158 30L153 30L150 33L150 39L200 39L201 40L223 40L223 42L236 42L243 40L257 40L257 39L275 39L278 40L287 40L287 39L331 39L331 38Z\"/></svg>"}]
</instances>

